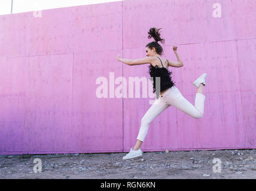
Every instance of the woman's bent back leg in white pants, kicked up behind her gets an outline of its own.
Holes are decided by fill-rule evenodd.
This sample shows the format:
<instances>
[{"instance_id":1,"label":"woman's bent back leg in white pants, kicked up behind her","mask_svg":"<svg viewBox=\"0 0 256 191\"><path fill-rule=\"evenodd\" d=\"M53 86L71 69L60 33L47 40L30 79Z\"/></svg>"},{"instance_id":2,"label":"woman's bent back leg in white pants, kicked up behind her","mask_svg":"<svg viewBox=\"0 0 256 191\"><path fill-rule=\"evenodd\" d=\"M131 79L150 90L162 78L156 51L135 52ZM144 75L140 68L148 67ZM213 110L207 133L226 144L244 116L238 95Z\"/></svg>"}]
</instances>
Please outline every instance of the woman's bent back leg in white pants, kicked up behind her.
<instances>
[{"instance_id":1,"label":"woman's bent back leg in white pants, kicked up behind her","mask_svg":"<svg viewBox=\"0 0 256 191\"><path fill-rule=\"evenodd\" d=\"M171 96L172 94L170 94L169 97L167 97L166 102L172 106L175 106L182 112L187 113L191 117L199 119L203 116L203 108L205 102L205 95L203 95L202 92L203 87L200 85L196 93L195 106L186 100L178 90L176 90L176 93L173 94L175 95L175 98L173 98Z\"/></svg>"}]
</instances>

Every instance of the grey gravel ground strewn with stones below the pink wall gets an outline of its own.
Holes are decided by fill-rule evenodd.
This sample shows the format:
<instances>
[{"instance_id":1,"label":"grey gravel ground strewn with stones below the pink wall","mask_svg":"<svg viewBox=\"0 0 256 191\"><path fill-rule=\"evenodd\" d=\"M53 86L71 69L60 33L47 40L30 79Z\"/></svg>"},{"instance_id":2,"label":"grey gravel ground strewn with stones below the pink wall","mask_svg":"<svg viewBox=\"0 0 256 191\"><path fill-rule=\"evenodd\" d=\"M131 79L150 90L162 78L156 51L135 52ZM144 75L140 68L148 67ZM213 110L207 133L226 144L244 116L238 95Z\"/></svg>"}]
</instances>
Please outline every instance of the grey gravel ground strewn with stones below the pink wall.
<instances>
[{"instance_id":1,"label":"grey gravel ground strewn with stones below the pink wall","mask_svg":"<svg viewBox=\"0 0 256 191\"><path fill-rule=\"evenodd\" d=\"M144 152L123 161L126 153L0 155L0 178L256 178L256 149ZM33 171L41 159L41 172ZM214 168L214 158L220 167ZM214 169L221 172L214 172ZM38 168L37 168L38 170Z\"/></svg>"}]
</instances>

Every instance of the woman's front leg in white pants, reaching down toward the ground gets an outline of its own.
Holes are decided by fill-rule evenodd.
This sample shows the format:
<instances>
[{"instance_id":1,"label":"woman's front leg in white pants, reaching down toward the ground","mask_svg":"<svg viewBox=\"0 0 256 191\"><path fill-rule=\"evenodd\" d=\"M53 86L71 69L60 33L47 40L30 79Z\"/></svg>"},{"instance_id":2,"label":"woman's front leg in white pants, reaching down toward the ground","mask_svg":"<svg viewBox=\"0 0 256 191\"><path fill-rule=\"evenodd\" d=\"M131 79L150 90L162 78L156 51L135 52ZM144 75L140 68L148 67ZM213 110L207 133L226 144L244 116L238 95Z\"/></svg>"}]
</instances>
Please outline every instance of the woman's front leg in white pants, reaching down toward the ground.
<instances>
[{"instance_id":1,"label":"woman's front leg in white pants, reaching down toward the ground","mask_svg":"<svg viewBox=\"0 0 256 191\"><path fill-rule=\"evenodd\" d=\"M139 148L141 148L141 144L145 140L145 137L148 133L148 127L150 126L150 123L169 106L170 105L161 100L161 98L154 101L153 105L150 107L150 109L148 109L148 111L141 119L141 128L139 129L137 142L133 150L138 150Z\"/></svg>"}]
</instances>

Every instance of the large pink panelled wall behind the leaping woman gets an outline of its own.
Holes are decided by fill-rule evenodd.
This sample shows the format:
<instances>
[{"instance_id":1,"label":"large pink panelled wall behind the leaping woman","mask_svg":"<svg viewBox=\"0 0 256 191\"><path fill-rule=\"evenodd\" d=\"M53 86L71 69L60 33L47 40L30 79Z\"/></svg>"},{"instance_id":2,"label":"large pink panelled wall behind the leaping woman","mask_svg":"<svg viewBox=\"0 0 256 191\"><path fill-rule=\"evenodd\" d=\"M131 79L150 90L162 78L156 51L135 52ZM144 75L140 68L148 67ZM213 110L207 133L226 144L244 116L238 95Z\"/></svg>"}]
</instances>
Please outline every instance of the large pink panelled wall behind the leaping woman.
<instances>
[{"instance_id":1,"label":"large pink panelled wall behind the leaping woman","mask_svg":"<svg viewBox=\"0 0 256 191\"><path fill-rule=\"evenodd\" d=\"M96 79L146 76L150 27L163 27L163 57L194 104L208 73L205 114L170 106L150 125L144 151L256 148L256 1L126 0L0 16L0 154L127 152L152 98L97 98ZM118 84L115 84L115 88Z\"/></svg>"}]
</instances>

